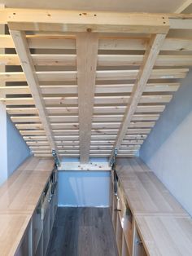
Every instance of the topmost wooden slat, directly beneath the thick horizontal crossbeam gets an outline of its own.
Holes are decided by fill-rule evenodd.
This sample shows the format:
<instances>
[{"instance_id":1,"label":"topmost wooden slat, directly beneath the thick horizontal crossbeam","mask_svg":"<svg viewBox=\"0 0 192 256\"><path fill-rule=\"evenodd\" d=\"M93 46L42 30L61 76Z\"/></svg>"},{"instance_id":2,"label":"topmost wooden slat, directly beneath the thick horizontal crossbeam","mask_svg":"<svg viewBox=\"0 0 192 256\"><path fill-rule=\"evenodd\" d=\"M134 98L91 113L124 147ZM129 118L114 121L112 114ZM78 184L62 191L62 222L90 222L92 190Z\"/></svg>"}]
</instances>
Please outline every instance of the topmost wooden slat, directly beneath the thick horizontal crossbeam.
<instances>
[{"instance_id":1,"label":"topmost wooden slat, directly beneath the thick horizontal crossbeam","mask_svg":"<svg viewBox=\"0 0 192 256\"><path fill-rule=\"evenodd\" d=\"M0 47L14 48L10 35L0 35ZM29 48L33 49L76 49L76 41L73 37L63 35L27 35ZM147 38L101 38L98 42L98 50L146 50ZM192 40L190 38L165 38L161 47L162 51L191 51Z\"/></svg>"}]
</instances>

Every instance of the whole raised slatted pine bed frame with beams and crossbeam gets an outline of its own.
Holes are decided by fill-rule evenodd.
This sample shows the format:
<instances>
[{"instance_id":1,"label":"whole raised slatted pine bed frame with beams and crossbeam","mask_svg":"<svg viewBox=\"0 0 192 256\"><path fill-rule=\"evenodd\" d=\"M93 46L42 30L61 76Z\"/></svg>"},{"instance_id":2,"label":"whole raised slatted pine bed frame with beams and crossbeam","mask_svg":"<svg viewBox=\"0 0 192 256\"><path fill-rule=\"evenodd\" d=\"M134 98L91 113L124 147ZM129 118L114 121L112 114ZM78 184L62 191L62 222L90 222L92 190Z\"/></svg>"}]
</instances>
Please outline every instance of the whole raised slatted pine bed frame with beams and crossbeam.
<instances>
[{"instance_id":1,"label":"whole raised slatted pine bed frame with beams and crossbeam","mask_svg":"<svg viewBox=\"0 0 192 256\"><path fill-rule=\"evenodd\" d=\"M132 157L192 65L192 15L2 9L0 100L37 157ZM18 71L19 70L19 71Z\"/></svg>"}]
</instances>

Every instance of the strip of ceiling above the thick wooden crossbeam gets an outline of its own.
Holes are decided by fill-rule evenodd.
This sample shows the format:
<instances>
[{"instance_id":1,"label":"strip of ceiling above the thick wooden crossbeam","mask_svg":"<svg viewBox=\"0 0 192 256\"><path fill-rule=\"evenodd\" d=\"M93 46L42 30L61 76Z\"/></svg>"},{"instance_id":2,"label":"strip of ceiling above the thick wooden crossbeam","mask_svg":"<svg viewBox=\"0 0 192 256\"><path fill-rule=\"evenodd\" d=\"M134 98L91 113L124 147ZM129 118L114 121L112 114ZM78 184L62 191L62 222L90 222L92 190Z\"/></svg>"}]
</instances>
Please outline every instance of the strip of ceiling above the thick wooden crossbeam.
<instances>
[{"instance_id":1,"label":"strip of ceiling above the thick wooden crossbeam","mask_svg":"<svg viewBox=\"0 0 192 256\"><path fill-rule=\"evenodd\" d=\"M86 11L174 12L185 0L0 0L6 7Z\"/></svg>"}]
</instances>

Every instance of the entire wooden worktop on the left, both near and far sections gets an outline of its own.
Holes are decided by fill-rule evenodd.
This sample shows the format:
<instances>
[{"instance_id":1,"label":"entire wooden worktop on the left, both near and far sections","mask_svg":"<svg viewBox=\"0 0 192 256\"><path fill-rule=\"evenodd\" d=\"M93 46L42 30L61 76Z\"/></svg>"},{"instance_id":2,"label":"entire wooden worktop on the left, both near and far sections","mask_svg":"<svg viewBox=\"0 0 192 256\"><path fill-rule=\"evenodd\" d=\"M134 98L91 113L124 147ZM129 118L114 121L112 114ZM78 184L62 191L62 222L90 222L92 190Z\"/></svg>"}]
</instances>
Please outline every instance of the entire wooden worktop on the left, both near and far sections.
<instances>
[{"instance_id":1,"label":"entire wooden worktop on the left, both near and far sections","mask_svg":"<svg viewBox=\"0 0 192 256\"><path fill-rule=\"evenodd\" d=\"M14 255L54 169L52 159L28 158L0 187L0 255Z\"/></svg>"}]
</instances>

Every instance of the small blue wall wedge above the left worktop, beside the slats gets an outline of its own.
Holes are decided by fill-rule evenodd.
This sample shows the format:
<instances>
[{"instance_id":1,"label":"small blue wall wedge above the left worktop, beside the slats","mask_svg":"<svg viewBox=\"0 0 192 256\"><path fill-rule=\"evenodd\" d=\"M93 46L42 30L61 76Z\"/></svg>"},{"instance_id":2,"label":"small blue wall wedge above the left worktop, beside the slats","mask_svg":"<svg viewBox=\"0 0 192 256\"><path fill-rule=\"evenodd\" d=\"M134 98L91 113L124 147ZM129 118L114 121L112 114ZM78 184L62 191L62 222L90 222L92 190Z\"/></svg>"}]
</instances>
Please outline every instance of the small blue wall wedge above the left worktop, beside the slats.
<instances>
[{"instance_id":1,"label":"small blue wall wedge above the left worktop, beside the slats","mask_svg":"<svg viewBox=\"0 0 192 256\"><path fill-rule=\"evenodd\" d=\"M7 172L8 176L30 156L28 145L7 115Z\"/></svg>"}]
</instances>

